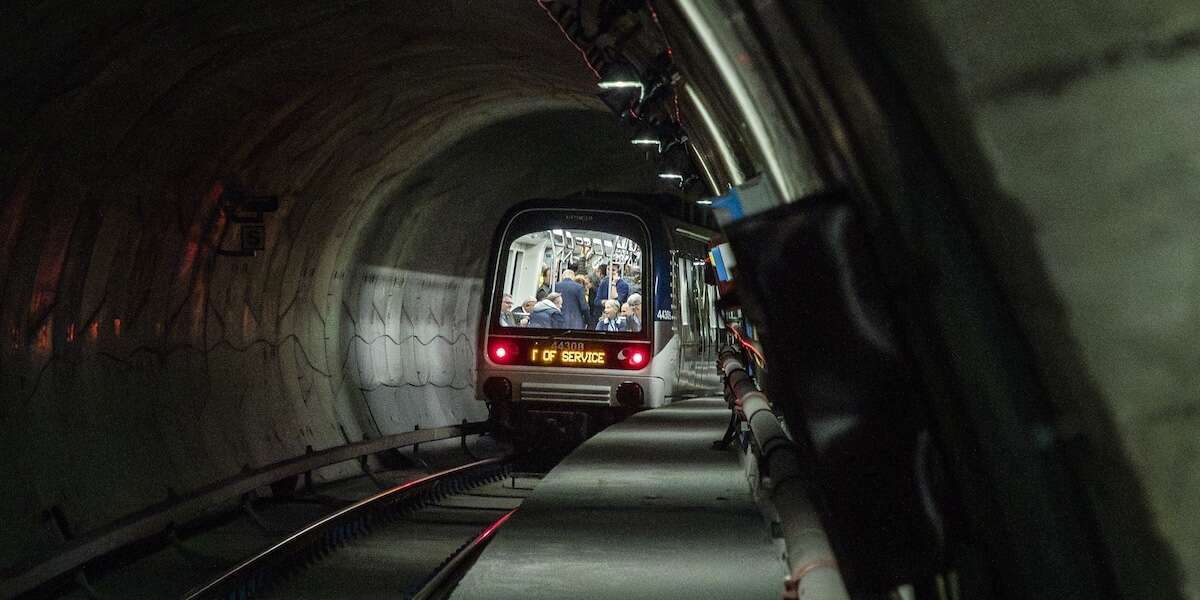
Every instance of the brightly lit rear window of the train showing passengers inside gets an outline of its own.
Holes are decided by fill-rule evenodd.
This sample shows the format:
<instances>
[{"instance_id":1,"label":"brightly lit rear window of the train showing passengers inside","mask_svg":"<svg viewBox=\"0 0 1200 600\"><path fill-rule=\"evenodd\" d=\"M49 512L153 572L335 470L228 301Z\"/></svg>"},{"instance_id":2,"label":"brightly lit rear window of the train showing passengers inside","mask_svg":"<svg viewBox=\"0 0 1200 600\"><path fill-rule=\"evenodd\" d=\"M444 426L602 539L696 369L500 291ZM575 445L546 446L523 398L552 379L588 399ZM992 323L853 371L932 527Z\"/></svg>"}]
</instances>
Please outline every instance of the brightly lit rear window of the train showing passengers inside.
<instances>
[{"instance_id":1,"label":"brightly lit rear window of the train showing passengers inside","mask_svg":"<svg viewBox=\"0 0 1200 600\"><path fill-rule=\"evenodd\" d=\"M503 271L502 328L640 335L643 240L594 229L547 229L512 240Z\"/></svg>"}]
</instances>

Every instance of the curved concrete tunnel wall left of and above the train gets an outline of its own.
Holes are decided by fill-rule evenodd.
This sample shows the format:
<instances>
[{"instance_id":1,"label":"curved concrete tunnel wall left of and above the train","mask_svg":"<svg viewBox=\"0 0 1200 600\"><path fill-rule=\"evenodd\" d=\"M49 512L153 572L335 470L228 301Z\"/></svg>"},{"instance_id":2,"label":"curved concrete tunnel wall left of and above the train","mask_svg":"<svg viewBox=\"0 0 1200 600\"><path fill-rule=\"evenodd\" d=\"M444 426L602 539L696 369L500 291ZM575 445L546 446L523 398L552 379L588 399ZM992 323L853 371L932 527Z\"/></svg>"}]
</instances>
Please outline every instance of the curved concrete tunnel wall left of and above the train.
<instances>
[{"instance_id":1,"label":"curved concrete tunnel wall left of and above the train","mask_svg":"<svg viewBox=\"0 0 1200 600\"><path fill-rule=\"evenodd\" d=\"M5 10L0 574L307 446L481 418L498 216L654 185L533 2ZM280 198L253 258L217 254L233 190Z\"/></svg>"}]
</instances>

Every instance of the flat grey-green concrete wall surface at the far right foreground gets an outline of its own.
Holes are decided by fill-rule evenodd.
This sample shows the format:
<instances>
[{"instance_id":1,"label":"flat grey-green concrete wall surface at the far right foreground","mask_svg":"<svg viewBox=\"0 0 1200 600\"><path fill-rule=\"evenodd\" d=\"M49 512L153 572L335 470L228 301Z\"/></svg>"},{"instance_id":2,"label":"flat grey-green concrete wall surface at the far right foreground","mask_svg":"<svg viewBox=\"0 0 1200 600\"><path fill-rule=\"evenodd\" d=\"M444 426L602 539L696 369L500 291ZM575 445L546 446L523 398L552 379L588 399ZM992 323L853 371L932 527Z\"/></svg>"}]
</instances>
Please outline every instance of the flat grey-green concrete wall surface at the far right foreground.
<instances>
[{"instance_id":1,"label":"flat grey-green concrete wall surface at the far right foreground","mask_svg":"<svg viewBox=\"0 0 1200 600\"><path fill-rule=\"evenodd\" d=\"M1198 599L1200 7L913 5L880 12L884 49L1024 324L1060 443L1090 440L1076 474L1118 589Z\"/></svg>"}]
</instances>

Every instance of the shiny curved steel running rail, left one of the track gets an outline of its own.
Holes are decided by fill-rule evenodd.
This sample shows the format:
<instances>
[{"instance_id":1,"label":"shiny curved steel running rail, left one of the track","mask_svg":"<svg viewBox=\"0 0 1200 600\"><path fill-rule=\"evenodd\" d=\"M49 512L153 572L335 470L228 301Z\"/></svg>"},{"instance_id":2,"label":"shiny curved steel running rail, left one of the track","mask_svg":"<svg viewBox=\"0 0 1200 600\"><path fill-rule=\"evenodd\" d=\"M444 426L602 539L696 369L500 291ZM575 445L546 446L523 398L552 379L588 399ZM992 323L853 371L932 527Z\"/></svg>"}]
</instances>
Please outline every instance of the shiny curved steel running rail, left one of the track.
<instances>
[{"instance_id":1,"label":"shiny curved steel running rail, left one of the track","mask_svg":"<svg viewBox=\"0 0 1200 600\"><path fill-rule=\"evenodd\" d=\"M306 544L314 541L317 538L323 535L325 530L335 524L343 523L346 521L358 517L359 514L364 512L366 509L376 508L386 504L392 500L398 500L409 493L420 492L424 488L434 485L444 479L452 478L455 475L462 475L472 470L476 470L481 467L496 466L511 460L510 456L496 456L492 458L484 458L482 461L476 461L469 464L463 464L461 467L455 467L446 469L432 475L424 476L421 479L414 479L413 481L407 481L391 490L379 492L370 498L359 500L344 509L341 509L331 515L322 517L320 520L308 524L304 529L300 529L292 535L288 535L283 540L274 544L271 547L250 557L241 563L238 563L232 569L221 574L209 583L200 586L184 596L184 600L199 600L202 598L208 598L214 592L221 590L226 587L235 584L241 578L254 572L256 569L260 569L266 562L271 559L287 558L294 552L302 551Z\"/></svg>"}]
</instances>

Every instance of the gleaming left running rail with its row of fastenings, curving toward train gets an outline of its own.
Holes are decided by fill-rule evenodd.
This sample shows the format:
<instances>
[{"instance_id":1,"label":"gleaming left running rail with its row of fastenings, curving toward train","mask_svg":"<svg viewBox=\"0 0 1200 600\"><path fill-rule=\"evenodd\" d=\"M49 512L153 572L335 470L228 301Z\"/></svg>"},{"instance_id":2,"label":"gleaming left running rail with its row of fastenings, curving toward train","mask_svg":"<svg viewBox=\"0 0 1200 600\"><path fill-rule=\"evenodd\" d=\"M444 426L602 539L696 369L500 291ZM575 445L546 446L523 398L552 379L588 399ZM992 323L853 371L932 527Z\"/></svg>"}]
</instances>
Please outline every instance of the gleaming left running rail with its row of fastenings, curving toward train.
<instances>
[{"instance_id":1,"label":"gleaming left running rail with its row of fastenings, curving toward train","mask_svg":"<svg viewBox=\"0 0 1200 600\"><path fill-rule=\"evenodd\" d=\"M370 498L350 504L349 506L346 506L331 515L322 517L304 529L300 529L299 532L295 532L283 540L271 545L269 548L242 560L209 583L192 589L184 596L184 600L214 598L223 592L228 592L229 588L240 587L241 582L247 578L262 576L264 569L287 569L293 566L287 564L287 560L296 554L311 550L313 545L340 545L348 540L353 532L356 532L358 528L366 526L362 517L371 509L383 508L391 503L408 499L410 496L424 493L448 479L452 479L457 475L467 475L470 472L479 470L485 467L498 467L511 458L511 456L497 456L463 464L461 467L455 467L452 469L446 469L432 475L426 475L421 479L401 484L391 490L379 492Z\"/></svg>"}]
</instances>

